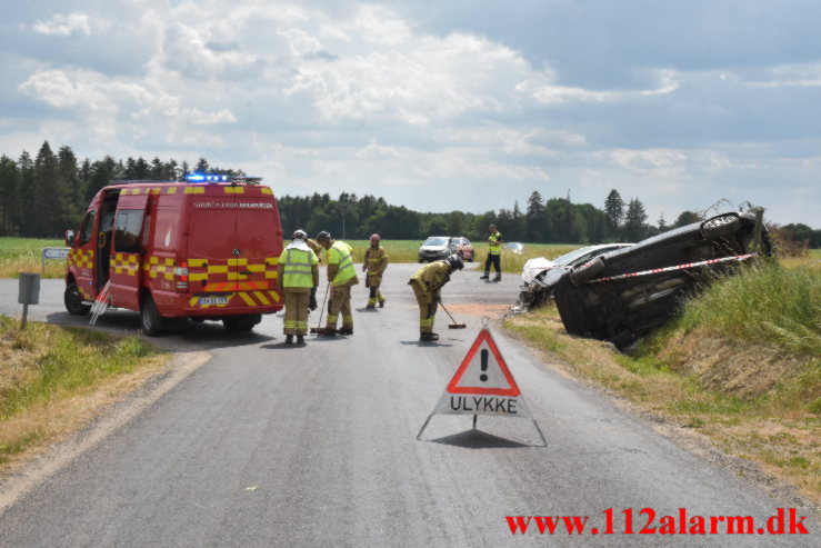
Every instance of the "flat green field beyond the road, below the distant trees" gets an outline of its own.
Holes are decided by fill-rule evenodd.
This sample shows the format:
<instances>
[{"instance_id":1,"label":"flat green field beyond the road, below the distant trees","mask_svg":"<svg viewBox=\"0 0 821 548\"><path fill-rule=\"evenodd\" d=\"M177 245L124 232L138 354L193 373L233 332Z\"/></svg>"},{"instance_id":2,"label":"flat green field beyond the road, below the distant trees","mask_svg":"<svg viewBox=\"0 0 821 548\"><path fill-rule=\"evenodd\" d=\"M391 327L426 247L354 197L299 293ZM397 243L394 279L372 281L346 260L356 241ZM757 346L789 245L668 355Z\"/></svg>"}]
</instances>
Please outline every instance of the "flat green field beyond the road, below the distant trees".
<instances>
[{"instance_id":1,"label":"flat green field beyond the road, below the distant trees","mask_svg":"<svg viewBox=\"0 0 821 548\"><path fill-rule=\"evenodd\" d=\"M364 250L369 246L368 240L347 240L347 242L353 248L354 261L361 262ZM417 262L417 251L421 240L384 240L382 245L391 262ZM19 272L41 272L40 257L46 247L64 247L64 243L62 240L40 238L0 238L0 278L16 278ZM502 253L502 270L521 272L528 259L554 258L579 247L581 245L525 243L521 255L508 250ZM487 245L475 243L475 261L483 265L487 255ZM64 261L48 260L42 275L43 278L62 278L64 271Z\"/></svg>"}]
</instances>

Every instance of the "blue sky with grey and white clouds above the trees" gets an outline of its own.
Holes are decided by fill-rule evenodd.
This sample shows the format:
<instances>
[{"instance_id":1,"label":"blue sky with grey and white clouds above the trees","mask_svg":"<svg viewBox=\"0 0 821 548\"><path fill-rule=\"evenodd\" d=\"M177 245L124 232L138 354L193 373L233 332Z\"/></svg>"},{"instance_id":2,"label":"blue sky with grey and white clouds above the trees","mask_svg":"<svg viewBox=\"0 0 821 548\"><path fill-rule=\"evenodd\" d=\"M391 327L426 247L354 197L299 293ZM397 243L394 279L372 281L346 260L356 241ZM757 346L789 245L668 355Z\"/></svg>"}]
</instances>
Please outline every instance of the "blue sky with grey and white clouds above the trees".
<instances>
[{"instance_id":1,"label":"blue sky with grey and white clouds above the trees","mask_svg":"<svg viewBox=\"0 0 821 548\"><path fill-rule=\"evenodd\" d=\"M0 153L422 211L533 190L821 226L817 0L0 0Z\"/></svg>"}]
</instances>

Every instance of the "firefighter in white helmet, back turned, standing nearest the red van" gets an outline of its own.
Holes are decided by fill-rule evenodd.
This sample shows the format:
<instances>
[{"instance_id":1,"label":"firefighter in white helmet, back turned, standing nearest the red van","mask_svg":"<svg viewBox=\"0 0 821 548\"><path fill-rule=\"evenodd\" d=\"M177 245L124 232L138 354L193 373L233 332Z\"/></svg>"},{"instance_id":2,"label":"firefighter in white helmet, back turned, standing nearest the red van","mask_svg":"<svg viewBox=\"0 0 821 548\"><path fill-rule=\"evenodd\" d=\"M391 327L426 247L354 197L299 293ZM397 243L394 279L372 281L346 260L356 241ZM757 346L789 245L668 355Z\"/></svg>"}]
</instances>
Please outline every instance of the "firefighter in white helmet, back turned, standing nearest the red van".
<instances>
[{"instance_id":1,"label":"firefighter in white helmet, back turned, standing nearest the red van","mask_svg":"<svg viewBox=\"0 0 821 548\"><path fill-rule=\"evenodd\" d=\"M308 305L311 291L319 285L319 259L308 247L308 236L297 230L291 243L279 256L279 280L286 297L286 343L293 343L293 336L300 345L308 332Z\"/></svg>"}]
</instances>

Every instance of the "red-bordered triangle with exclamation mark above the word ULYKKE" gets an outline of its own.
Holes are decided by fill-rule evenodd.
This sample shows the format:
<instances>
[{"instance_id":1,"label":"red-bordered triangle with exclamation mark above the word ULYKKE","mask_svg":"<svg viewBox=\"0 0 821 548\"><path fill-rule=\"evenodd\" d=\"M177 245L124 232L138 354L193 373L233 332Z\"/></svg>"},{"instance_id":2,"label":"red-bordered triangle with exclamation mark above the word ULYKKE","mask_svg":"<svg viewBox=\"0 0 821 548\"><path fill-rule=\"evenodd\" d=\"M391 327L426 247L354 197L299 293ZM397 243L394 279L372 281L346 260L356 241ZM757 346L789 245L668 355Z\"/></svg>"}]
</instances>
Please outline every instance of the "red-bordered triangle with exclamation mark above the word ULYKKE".
<instances>
[{"instance_id":1,"label":"red-bordered triangle with exclamation mark above the word ULYKKE","mask_svg":"<svg viewBox=\"0 0 821 548\"><path fill-rule=\"evenodd\" d=\"M482 329L445 388L448 393L521 393L490 331Z\"/></svg>"}]
</instances>

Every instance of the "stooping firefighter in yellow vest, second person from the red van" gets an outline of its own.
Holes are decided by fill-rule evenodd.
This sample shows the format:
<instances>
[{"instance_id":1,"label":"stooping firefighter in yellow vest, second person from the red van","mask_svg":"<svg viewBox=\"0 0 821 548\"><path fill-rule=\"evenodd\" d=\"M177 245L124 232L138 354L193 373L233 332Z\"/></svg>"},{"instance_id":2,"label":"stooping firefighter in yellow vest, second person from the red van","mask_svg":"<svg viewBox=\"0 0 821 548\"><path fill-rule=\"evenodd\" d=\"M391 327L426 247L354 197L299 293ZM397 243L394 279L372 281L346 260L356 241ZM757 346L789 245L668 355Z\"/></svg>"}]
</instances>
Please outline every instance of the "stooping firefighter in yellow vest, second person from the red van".
<instances>
[{"instance_id":1,"label":"stooping firefighter in yellow vest, second person from the red van","mask_svg":"<svg viewBox=\"0 0 821 548\"><path fill-rule=\"evenodd\" d=\"M353 266L353 249L331 238L322 231L317 235L317 242L328 250L328 282L331 285L331 299L328 305L328 322L320 335L333 337L336 333L353 335L353 316L351 315L351 287L359 283L357 268ZM337 320L342 313L342 328L337 330Z\"/></svg>"}]
</instances>

